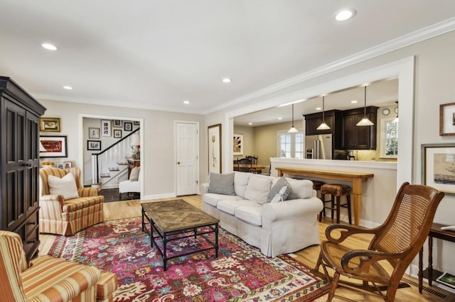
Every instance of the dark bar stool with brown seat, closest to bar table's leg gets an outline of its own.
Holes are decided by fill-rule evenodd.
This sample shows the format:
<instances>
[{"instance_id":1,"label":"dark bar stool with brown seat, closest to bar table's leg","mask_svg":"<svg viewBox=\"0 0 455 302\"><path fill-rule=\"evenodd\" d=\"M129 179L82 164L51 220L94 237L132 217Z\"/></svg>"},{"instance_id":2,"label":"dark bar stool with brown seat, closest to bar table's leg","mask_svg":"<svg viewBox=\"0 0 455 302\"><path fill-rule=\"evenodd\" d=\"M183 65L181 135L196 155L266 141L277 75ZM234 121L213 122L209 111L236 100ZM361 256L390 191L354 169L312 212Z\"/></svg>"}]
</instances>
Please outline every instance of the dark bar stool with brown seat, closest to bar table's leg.
<instances>
[{"instance_id":1,"label":"dark bar stool with brown seat, closest to bar table's leg","mask_svg":"<svg viewBox=\"0 0 455 302\"><path fill-rule=\"evenodd\" d=\"M329 201L325 200L326 194L331 194ZM346 196L346 203L340 204L341 196ZM336 197L336 198L335 198ZM336 203L335 203L336 199ZM333 211L336 211L336 223L340 223L340 208L348 208L349 224L352 224L351 211L350 211L350 186L345 184L323 184L321 186L321 200L324 203L324 207L319 213L319 221L323 216L326 216L326 208L331 210L331 218L333 219ZM325 206L327 202L331 203L331 206Z\"/></svg>"}]
</instances>

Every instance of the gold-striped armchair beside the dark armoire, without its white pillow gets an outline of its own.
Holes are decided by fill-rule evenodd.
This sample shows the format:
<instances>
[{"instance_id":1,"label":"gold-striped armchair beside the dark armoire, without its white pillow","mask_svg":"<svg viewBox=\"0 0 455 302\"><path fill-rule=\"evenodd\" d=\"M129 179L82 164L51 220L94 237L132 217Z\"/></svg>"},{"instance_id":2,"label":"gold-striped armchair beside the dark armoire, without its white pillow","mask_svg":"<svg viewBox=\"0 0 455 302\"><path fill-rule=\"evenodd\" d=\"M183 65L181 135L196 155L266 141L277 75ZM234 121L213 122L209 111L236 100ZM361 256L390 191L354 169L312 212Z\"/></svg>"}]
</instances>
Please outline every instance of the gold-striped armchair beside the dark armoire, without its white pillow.
<instances>
[{"instance_id":1,"label":"gold-striped armchair beside the dark armoire, without its white pillow","mask_svg":"<svg viewBox=\"0 0 455 302\"><path fill-rule=\"evenodd\" d=\"M50 195L48 177L64 177L71 172L75 178L79 197L65 200L62 195ZM104 196L98 196L97 188L80 186L80 169L40 169L40 233L73 235L80 230L102 223Z\"/></svg>"}]
</instances>

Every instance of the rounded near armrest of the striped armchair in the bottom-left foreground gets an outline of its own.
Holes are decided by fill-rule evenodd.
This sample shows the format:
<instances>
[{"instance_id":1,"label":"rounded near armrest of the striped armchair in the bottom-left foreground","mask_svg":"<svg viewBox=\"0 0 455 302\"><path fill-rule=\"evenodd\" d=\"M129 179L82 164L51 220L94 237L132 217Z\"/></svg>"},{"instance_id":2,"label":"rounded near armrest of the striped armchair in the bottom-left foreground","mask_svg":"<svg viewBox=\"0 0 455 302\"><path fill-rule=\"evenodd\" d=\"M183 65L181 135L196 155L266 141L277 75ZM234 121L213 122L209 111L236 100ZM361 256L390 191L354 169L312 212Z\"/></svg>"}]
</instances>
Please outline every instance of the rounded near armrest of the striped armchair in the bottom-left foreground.
<instances>
[{"instance_id":1,"label":"rounded near armrest of the striped armchair in the bottom-left foreground","mask_svg":"<svg viewBox=\"0 0 455 302\"><path fill-rule=\"evenodd\" d=\"M28 297L27 301L73 301L75 297L79 296L86 289L96 286L100 278L101 272L99 269L96 267L84 267L80 271L58 281L58 283L50 286L43 292L37 293L33 297ZM62 293L63 289L66 290Z\"/></svg>"}]
</instances>

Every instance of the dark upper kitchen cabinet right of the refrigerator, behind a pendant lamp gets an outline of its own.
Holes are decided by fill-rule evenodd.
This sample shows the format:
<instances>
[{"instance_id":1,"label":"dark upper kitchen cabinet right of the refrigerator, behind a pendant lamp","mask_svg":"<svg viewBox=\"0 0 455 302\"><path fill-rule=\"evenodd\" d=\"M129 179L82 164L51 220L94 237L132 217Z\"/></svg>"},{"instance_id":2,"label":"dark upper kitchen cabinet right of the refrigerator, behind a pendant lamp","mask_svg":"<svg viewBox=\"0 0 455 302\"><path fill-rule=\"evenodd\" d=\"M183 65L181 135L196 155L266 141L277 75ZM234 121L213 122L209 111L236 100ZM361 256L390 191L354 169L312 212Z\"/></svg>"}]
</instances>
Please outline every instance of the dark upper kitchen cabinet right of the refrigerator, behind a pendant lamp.
<instances>
[{"instance_id":1,"label":"dark upper kitchen cabinet right of the refrigerator, behind a pendant lamp","mask_svg":"<svg viewBox=\"0 0 455 302\"><path fill-rule=\"evenodd\" d=\"M371 126L358 126L364 116L364 108L343 111L342 148L345 150L375 150L378 107L368 106L366 116L374 123Z\"/></svg>"}]
</instances>

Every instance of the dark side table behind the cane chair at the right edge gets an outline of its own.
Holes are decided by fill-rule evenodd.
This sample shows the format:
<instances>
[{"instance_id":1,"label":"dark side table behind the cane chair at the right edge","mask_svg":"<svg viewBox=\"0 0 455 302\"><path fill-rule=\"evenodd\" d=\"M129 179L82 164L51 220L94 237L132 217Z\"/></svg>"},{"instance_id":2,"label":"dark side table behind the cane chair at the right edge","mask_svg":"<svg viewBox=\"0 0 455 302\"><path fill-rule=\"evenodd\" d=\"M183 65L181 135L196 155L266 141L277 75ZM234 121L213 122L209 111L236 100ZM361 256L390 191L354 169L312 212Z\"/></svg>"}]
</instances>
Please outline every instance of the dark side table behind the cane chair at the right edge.
<instances>
[{"instance_id":1,"label":"dark side table behind the cane chair at the right edge","mask_svg":"<svg viewBox=\"0 0 455 302\"><path fill-rule=\"evenodd\" d=\"M441 225L440 223L433 223L432 228L429 230L428 234L428 285L432 286L433 282L433 238L438 238L441 240L446 240L449 242L455 242L455 232L451 230L441 230L441 227L446 225ZM422 281L423 281L423 251L424 248L419 251L419 293L422 293Z\"/></svg>"}]
</instances>

